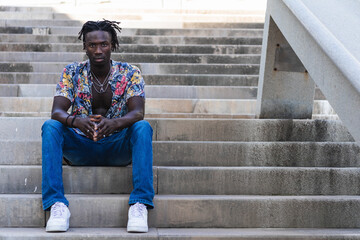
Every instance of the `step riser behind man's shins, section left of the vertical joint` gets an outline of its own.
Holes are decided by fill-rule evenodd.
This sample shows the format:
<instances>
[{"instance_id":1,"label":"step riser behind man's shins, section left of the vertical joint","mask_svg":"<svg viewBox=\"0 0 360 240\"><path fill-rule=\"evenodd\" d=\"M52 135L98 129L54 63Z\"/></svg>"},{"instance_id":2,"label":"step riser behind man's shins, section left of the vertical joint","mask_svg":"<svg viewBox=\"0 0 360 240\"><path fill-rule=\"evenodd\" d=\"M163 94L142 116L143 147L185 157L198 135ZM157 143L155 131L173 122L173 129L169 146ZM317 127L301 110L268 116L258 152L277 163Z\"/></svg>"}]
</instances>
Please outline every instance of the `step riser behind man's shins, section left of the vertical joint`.
<instances>
[{"instance_id":1,"label":"step riser behind man's shins, section left of the vertical joint","mask_svg":"<svg viewBox=\"0 0 360 240\"><path fill-rule=\"evenodd\" d=\"M0 166L1 194L41 193L41 166ZM157 192L157 168L153 170ZM131 167L63 167L65 193L123 194L132 191Z\"/></svg>"}]
</instances>

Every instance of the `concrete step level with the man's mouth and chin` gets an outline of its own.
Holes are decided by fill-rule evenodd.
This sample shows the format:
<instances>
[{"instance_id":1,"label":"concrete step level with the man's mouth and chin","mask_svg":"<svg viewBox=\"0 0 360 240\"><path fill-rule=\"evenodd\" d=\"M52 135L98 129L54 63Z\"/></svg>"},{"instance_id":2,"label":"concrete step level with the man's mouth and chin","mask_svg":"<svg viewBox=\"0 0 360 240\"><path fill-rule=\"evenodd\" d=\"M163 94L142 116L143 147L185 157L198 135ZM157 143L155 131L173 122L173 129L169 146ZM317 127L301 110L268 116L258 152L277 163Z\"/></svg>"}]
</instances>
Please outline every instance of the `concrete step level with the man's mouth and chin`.
<instances>
[{"instance_id":1,"label":"concrete step level with the man's mouth and chin","mask_svg":"<svg viewBox=\"0 0 360 240\"><path fill-rule=\"evenodd\" d=\"M195 64L260 64L259 54L175 54L175 53L112 53L115 61ZM84 61L84 52L0 52L0 62L74 62Z\"/></svg>"}]
</instances>

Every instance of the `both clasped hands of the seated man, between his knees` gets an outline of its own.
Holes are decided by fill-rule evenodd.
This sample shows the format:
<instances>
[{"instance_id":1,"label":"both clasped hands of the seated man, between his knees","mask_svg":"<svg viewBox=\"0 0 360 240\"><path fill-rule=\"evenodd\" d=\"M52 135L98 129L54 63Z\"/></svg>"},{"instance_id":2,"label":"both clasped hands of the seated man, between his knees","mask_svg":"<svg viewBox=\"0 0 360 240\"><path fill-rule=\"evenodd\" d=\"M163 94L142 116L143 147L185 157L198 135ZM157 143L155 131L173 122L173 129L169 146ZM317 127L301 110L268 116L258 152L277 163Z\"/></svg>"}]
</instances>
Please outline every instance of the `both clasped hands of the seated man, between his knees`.
<instances>
[{"instance_id":1,"label":"both clasped hands of the seated man, between his knees","mask_svg":"<svg viewBox=\"0 0 360 240\"><path fill-rule=\"evenodd\" d=\"M105 118L101 115L90 115L87 118L77 118L76 125L86 137L95 142L109 136L117 130L114 119Z\"/></svg>"}]
</instances>

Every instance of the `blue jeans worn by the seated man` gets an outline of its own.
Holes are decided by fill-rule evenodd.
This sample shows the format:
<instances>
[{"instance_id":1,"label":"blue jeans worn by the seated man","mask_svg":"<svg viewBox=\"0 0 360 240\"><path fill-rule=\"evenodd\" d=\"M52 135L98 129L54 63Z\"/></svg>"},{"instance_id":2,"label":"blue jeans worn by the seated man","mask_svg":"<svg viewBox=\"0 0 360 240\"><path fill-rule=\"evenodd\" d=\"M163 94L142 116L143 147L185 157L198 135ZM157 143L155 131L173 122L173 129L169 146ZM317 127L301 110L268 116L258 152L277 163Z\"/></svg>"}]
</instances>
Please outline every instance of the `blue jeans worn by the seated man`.
<instances>
[{"instance_id":1,"label":"blue jeans worn by the seated man","mask_svg":"<svg viewBox=\"0 0 360 240\"><path fill-rule=\"evenodd\" d=\"M126 166L132 163L133 191L129 204L153 208L152 133L147 121L139 121L121 132L94 142L56 120L42 126L43 209L55 202L69 205L62 179L63 156L76 166Z\"/></svg>"}]
</instances>

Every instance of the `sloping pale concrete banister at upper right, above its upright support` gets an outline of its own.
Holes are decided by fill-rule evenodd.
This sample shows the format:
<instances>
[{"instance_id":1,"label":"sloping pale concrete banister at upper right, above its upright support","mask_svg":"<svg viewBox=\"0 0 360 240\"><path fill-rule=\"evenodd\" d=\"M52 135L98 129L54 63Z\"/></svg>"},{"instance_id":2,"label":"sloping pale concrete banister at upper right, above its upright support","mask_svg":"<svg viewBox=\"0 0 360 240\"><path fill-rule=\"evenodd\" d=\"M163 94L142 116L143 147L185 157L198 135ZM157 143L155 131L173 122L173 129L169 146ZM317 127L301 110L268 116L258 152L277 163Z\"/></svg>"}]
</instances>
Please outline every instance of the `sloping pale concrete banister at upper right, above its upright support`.
<instances>
[{"instance_id":1,"label":"sloping pale concrete banister at upper right, above its upright support","mask_svg":"<svg viewBox=\"0 0 360 240\"><path fill-rule=\"evenodd\" d=\"M307 0L268 3L272 19L356 141L360 142L360 47L355 44L360 35L353 30L353 26L359 25L355 11L359 3ZM347 24L332 17L339 19L345 15L349 19Z\"/></svg>"}]
</instances>

